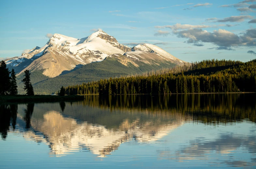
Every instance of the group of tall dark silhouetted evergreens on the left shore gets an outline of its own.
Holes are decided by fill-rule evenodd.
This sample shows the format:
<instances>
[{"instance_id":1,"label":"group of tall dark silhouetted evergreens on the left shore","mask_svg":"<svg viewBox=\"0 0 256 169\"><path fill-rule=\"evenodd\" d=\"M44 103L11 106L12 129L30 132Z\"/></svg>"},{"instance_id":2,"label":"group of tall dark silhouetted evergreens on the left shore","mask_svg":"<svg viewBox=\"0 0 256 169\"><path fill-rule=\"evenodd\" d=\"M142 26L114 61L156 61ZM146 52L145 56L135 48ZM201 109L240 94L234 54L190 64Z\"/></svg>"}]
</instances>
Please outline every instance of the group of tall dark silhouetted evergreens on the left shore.
<instances>
[{"instance_id":1,"label":"group of tall dark silhouetted evergreens on the left shore","mask_svg":"<svg viewBox=\"0 0 256 169\"><path fill-rule=\"evenodd\" d=\"M34 95L34 89L30 82L30 73L28 70L24 71L24 78L22 82L24 83L24 90L27 95ZM17 82L16 82L16 74L14 69L9 71L7 68L6 62L2 60L0 62L0 74L1 74L1 83L0 83L0 95L17 95Z\"/></svg>"}]
</instances>

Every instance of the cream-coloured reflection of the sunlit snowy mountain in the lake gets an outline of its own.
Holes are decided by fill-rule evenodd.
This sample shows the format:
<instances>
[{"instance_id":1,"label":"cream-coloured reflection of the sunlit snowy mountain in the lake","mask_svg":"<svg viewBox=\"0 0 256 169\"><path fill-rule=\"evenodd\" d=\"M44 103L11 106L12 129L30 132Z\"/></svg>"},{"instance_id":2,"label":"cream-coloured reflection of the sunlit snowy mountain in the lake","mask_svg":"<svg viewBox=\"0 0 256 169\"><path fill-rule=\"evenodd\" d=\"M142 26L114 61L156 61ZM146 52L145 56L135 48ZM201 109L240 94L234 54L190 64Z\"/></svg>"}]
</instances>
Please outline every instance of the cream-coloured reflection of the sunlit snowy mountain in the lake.
<instances>
[{"instance_id":1,"label":"cream-coloured reflection of the sunlit snowy mountain in the lake","mask_svg":"<svg viewBox=\"0 0 256 169\"><path fill-rule=\"evenodd\" d=\"M30 139L47 142L55 155L66 154L80 149L90 150L93 154L104 157L117 149L122 142L136 139L138 142L156 141L165 136L178 124L162 125L160 120L141 122L138 117L132 121L124 119L115 129L88 122L78 123L75 119L64 117L57 111L48 111L43 114L43 119L31 120L31 127L40 131L44 138L37 135L24 133Z\"/></svg>"}]
</instances>

